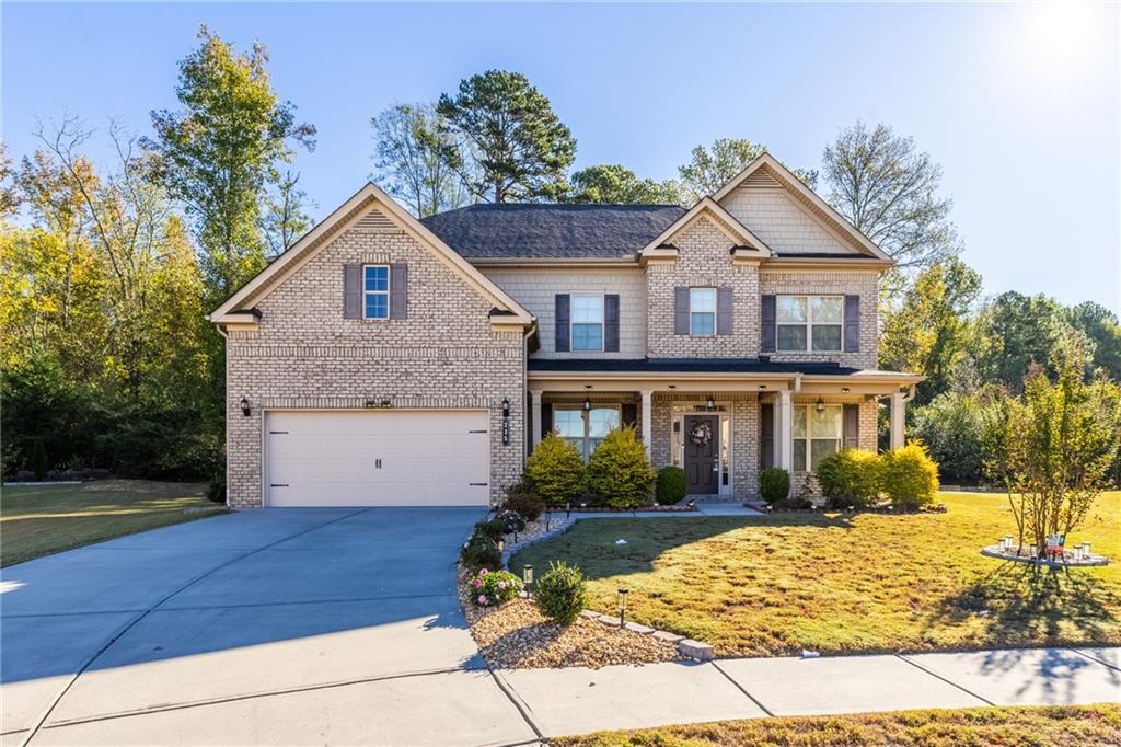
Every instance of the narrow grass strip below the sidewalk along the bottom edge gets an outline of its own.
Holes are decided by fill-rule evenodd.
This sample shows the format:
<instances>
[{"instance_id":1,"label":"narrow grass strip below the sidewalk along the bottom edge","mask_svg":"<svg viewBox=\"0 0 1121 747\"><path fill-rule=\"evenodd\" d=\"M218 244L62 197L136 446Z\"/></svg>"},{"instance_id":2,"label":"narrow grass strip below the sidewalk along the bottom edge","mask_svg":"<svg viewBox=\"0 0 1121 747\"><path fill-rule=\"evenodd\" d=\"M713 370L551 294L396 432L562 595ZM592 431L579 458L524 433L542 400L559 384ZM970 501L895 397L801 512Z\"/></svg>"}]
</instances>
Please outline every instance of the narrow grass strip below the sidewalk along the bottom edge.
<instances>
[{"instance_id":1,"label":"narrow grass strip below the sidewalk along the bottom edge","mask_svg":"<svg viewBox=\"0 0 1121 747\"><path fill-rule=\"evenodd\" d=\"M550 739L556 747L1117 745L1121 706L978 708L717 721Z\"/></svg>"}]
</instances>

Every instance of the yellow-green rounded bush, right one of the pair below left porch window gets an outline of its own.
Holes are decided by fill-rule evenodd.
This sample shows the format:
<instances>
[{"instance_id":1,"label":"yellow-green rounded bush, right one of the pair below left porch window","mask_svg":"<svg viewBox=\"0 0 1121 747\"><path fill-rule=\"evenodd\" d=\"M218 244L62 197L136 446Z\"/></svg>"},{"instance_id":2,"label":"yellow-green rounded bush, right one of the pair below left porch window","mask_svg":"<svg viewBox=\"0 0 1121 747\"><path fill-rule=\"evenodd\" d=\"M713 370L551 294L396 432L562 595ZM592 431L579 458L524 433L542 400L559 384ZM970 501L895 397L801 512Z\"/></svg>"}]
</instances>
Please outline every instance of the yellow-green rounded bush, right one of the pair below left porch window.
<instances>
[{"instance_id":1,"label":"yellow-green rounded bush, right one of the pair below left porch window","mask_svg":"<svg viewBox=\"0 0 1121 747\"><path fill-rule=\"evenodd\" d=\"M596 504L612 508L638 508L649 504L656 478L646 446L630 427L609 433L587 464L589 491Z\"/></svg>"}]
</instances>

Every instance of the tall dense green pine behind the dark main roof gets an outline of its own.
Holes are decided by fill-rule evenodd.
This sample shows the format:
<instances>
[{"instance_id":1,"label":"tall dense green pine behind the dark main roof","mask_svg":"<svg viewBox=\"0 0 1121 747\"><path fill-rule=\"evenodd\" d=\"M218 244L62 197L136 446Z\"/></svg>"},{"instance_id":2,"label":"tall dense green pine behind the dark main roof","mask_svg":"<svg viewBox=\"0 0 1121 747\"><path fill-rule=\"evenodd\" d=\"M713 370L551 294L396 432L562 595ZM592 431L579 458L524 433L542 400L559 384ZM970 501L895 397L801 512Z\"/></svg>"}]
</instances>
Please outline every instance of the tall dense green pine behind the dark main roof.
<instances>
[{"instance_id":1,"label":"tall dense green pine behind the dark main roof","mask_svg":"<svg viewBox=\"0 0 1121 747\"><path fill-rule=\"evenodd\" d=\"M490 70L443 94L436 111L471 146L478 173L467 188L491 202L559 200L576 140L525 75Z\"/></svg>"}]
</instances>

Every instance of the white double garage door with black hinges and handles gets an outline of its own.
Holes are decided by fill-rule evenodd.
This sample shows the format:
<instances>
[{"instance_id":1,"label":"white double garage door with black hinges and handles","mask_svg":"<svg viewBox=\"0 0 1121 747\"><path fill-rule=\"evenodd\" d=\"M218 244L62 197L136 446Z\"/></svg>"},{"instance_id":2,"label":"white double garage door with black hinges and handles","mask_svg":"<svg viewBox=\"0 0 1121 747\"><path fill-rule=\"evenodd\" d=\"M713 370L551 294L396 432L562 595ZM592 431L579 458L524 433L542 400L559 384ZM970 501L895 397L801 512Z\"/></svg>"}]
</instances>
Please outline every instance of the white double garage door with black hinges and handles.
<instances>
[{"instance_id":1,"label":"white double garage door with black hinges and handles","mask_svg":"<svg viewBox=\"0 0 1121 747\"><path fill-rule=\"evenodd\" d=\"M266 505L485 506L483 411L270 412Z\"/></svg>"}]
</instances>

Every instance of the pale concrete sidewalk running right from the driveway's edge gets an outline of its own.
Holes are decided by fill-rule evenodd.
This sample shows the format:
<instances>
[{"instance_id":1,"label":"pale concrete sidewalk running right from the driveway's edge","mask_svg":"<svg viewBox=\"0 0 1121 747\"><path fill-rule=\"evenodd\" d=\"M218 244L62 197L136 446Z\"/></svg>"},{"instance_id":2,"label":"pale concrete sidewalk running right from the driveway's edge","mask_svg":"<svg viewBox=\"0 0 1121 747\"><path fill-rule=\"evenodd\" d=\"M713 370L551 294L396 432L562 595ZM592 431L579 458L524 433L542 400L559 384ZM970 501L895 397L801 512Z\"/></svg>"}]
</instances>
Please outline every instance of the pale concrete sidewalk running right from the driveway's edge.
<instances>
[{"instance_id":1,"label":"pale concrete sidewalk running right from the driveway's edge","mask_svg":"<svg viewBox=\"0 0 1121 747\"><path fill-rule=\"evenodd\" d=\"M766 716L1121 700L1121 648L499 670L545 737Z\"/></svg>"}]
</instances>

